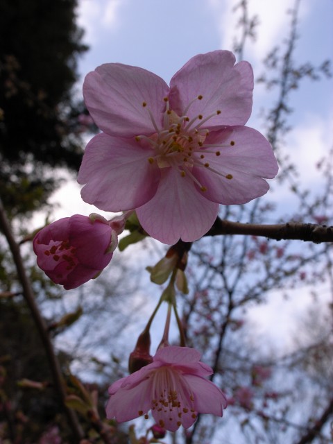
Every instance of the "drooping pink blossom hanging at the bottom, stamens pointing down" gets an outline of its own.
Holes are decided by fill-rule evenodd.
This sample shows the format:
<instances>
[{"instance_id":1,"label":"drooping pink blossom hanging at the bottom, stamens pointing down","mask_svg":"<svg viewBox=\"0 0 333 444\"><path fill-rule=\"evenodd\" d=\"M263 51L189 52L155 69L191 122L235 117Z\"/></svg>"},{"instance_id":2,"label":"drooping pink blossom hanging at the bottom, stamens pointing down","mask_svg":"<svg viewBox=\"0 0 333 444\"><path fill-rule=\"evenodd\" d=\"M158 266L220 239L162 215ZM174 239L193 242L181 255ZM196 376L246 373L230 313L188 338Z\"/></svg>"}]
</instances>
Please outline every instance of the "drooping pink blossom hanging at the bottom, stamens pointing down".
<instances>
[{"instance_id":1,"label":"drooping pink blossom hanging at the bottom, stamens pointing down","mask_svg":"<svg viewBox=\"0 0 333 444\"><path fill-rule=\"evenodd\" d=\"M142 415L148 418L151 410L160 427L174 432L180 425L191 427L198 413L222 416L226 398L206 379L211 374L197 350L161 348L151 364L110 386L107 417L124 422Z\"/></svg>"}]
</instances>

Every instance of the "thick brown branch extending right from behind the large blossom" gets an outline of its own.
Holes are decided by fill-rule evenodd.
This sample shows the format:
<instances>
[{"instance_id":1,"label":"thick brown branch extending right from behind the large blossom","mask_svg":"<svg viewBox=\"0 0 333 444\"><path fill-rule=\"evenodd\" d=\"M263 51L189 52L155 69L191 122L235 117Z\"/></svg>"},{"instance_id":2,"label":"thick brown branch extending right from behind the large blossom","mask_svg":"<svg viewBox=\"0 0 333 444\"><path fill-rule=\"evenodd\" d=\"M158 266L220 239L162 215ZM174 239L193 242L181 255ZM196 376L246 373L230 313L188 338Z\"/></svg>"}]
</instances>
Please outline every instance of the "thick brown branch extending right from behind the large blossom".
<instances>
[{"instance_id":1,"label":"thick brown branch extending right from behind the large blossom","mask_svg":"<svg viewBox=\"0 0 333 444\"><path fill-rule=\"evenodd\" d=\"M333 226L317 225L316 223L275 223L272 225L240 223L221 220L219 217L205 236L219 236L221 234L245 234L263 236L280 241L293 239L305 242L333 242Z\"/></svg>"}]
</instances>

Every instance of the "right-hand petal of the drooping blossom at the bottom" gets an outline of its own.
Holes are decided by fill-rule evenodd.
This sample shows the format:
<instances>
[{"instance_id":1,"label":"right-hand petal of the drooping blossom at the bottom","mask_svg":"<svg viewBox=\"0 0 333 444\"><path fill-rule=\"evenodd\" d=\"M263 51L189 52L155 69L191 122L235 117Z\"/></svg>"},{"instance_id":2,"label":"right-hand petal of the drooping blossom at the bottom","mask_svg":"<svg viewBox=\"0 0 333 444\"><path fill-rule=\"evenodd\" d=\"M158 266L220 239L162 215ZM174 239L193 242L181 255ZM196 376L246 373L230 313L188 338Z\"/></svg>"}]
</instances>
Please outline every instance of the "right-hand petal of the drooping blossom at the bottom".
<instances>
[{"instance_id":1,"label":"right-hand petal of the drooping blossom at the bottom","mask_svg":"<svg viewBox=\"0 0 333 444\"><path fill-rule=\"evenodd\" d=\"M216 416L223 415L223 409L227 407L227 399L215 384L194 375L184 375L184 379L191 387L196 411L212 413Z\"/></svg>"}]
</instances>

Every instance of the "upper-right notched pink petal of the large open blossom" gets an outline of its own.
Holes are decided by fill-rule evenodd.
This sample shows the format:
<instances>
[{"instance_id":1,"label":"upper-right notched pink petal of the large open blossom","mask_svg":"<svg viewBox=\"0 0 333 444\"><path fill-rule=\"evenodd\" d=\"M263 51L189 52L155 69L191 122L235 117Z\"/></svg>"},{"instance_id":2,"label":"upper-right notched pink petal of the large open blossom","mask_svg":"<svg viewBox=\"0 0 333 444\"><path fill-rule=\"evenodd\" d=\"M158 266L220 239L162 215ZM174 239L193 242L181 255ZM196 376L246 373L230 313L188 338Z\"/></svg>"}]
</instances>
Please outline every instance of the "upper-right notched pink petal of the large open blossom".
<instances>
[{"instance_id":1,"label":"upper-right notched pink petal of the large open blossom","mask_svg":"<svg viewBox=\"0 0 333 444\"><path fill-rule=\"evenodd\" d=\"M252 110L253 70L248 62L234 65L230 51L213 51L191 58L171 78L171 109L182 115L187 105L189 119L215 114L203 128L244 125ZM216 115L216 111L221 114ZM197 121L198 123L198 121Z\"/></svg>"}]
</instances>

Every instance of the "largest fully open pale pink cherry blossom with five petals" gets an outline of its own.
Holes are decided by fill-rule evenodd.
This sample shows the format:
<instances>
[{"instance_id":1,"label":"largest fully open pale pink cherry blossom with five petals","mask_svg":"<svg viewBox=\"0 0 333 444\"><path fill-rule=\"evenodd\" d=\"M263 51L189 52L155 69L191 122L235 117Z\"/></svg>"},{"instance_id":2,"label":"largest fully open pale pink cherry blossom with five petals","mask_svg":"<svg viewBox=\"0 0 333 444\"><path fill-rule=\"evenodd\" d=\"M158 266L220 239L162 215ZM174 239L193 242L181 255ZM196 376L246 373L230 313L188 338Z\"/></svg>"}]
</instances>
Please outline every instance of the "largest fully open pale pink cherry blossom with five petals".
<instances>
[{"instance_id":1,"label":"largest fully open pale pink cherry blossom with five petals","mask_svg":"<svg viewBox=\"0 0 333 444\"><path fill-rule=\"evenodd\" d=\"M253 71L229 51L191 58L171 78L110 63L89 73L85 103L103 133L87 144L78 182L101 210L136 209L165 244L194 241L219 204L243 204L268 191L278 164L271 145L245 127Z\"/></svg>"}]
</instances>

